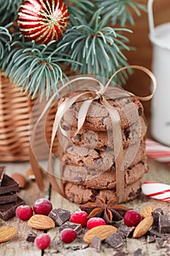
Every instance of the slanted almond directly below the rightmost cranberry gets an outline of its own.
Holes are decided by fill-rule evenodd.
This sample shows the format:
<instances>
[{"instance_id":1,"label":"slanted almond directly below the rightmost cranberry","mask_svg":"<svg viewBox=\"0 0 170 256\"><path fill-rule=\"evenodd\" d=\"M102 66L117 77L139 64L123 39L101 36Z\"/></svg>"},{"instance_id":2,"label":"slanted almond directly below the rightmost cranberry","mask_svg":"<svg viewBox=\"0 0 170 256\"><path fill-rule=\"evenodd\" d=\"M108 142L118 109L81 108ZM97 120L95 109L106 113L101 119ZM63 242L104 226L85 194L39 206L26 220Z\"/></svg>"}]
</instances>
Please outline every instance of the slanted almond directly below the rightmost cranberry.
<instances>
[{"instance_id":1,"label":"slanted almond directly below the rightmost cranberry","mask_svg":"<svg viewBox=\"0 0 170 256\"><path fill-rule=\"evenodd\" d=\"M136 226L134 230L133 238L138 238L143 236L147 233L147 231L150 229L150 227L153 224L153 217L149 216L144 219L142 219L142 222L139 223L139 225Z\"/></svg>"}]
</instances>

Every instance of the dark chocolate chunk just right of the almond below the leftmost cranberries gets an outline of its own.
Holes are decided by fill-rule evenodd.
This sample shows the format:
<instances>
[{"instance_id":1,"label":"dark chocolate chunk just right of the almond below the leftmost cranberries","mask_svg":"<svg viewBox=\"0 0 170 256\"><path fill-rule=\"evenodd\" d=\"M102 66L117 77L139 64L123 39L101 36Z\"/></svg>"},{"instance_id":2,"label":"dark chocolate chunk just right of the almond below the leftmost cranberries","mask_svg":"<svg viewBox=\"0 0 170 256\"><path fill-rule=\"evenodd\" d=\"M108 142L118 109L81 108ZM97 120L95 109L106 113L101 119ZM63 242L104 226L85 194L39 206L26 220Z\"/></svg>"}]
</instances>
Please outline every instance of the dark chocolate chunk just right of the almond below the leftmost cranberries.
<instances>
[{"instance_id":1,"label":"dark chocolate chunk just right of the almond below the leftmost cranberries","mask_svg":"<svg viewBox=\"0 0 170 256\"><path fill-rule=\"evenodd\" d=\"M50 214L48 215L53 221L55 222L55 225L57 227L61 226L64 222L70 219L71 214L70 211L67 211L62 208L53 209L50 211Z\"/></svg>"}]
</instances>

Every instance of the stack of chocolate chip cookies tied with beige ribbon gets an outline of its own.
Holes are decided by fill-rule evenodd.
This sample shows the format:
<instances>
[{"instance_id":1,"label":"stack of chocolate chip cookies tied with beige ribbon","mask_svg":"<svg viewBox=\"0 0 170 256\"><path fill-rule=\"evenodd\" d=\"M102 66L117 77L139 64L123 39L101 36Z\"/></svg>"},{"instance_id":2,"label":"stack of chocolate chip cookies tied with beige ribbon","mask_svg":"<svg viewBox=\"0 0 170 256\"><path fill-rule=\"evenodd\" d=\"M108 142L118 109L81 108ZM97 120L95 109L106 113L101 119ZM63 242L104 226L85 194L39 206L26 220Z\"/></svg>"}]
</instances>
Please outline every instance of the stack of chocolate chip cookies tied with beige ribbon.
<instances>
[{"instance_id":1,"label":"stack of chocolate chip cookies tied with beige ribbon","mask_svg":"<svg viewBox=\"0 0 170 256\"><path fill-rule=\"evenodd\" d=\"M72 93L69 97L72 97ZM139 99L128 94L117 99L107 99L107 102L120 116L120 144L123 146L124 158L123 191L125 201L128 201L139 195L142 177L147 172L144 109ZM96 195L109 200L116 196L117 186L112 119L101 100L95 99L82 128L76 134L81 105L82 102L75 102L64 113L61 123L70 135L69 140L64 136L60 139L64 193L75 203L93 202Z\"/></svg>"}]
</instances>

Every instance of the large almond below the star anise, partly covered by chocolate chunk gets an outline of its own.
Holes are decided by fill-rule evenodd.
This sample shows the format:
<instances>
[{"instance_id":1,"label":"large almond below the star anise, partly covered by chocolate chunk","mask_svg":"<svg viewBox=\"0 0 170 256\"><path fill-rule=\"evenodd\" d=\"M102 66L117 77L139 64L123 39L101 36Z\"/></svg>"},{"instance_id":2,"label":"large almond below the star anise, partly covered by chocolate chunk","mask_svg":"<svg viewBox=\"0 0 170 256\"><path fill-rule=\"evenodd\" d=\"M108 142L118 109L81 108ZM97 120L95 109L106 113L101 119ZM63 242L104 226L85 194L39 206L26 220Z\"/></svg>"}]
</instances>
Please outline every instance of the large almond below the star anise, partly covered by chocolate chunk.
<instances>
[{"instance_id":1,"label":"large almond below the star anise, partly covered by chocolate chunk","mask_svg":"<svg viewBox=\"0 0 170 256\"><path fill-rule=\"evenodd\" d=\"M98 238L101 238L101 241L104 241L108 236L110 236L112 233L116 233L117 228L110 225L101 225L98 227L93 227L92 229L88 230L87 233L83 236L83 240L91 244L93 237L97 236Z\"/></svg>"}]
</instances>

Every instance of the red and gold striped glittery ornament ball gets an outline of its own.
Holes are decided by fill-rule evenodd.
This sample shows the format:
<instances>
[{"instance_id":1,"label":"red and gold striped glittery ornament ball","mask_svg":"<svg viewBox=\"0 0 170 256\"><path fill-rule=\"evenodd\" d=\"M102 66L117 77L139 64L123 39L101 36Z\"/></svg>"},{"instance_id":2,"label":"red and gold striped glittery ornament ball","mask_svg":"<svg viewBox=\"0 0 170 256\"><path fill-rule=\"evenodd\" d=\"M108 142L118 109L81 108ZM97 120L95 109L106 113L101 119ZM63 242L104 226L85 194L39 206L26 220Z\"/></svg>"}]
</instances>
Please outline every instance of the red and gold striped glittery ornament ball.
<instances>
[{"instance_id":1,"label":"red and gold striped glittery ornament ball","mask_svg":"<svg viewBox=\"0 0 170 256\"><path fill-rule=\"evenodd\" d=\"M28 39L47 44L62 37L69 12L61 0L26 0L20 5L18 26Z\"/></svg>"}]
</instances>

